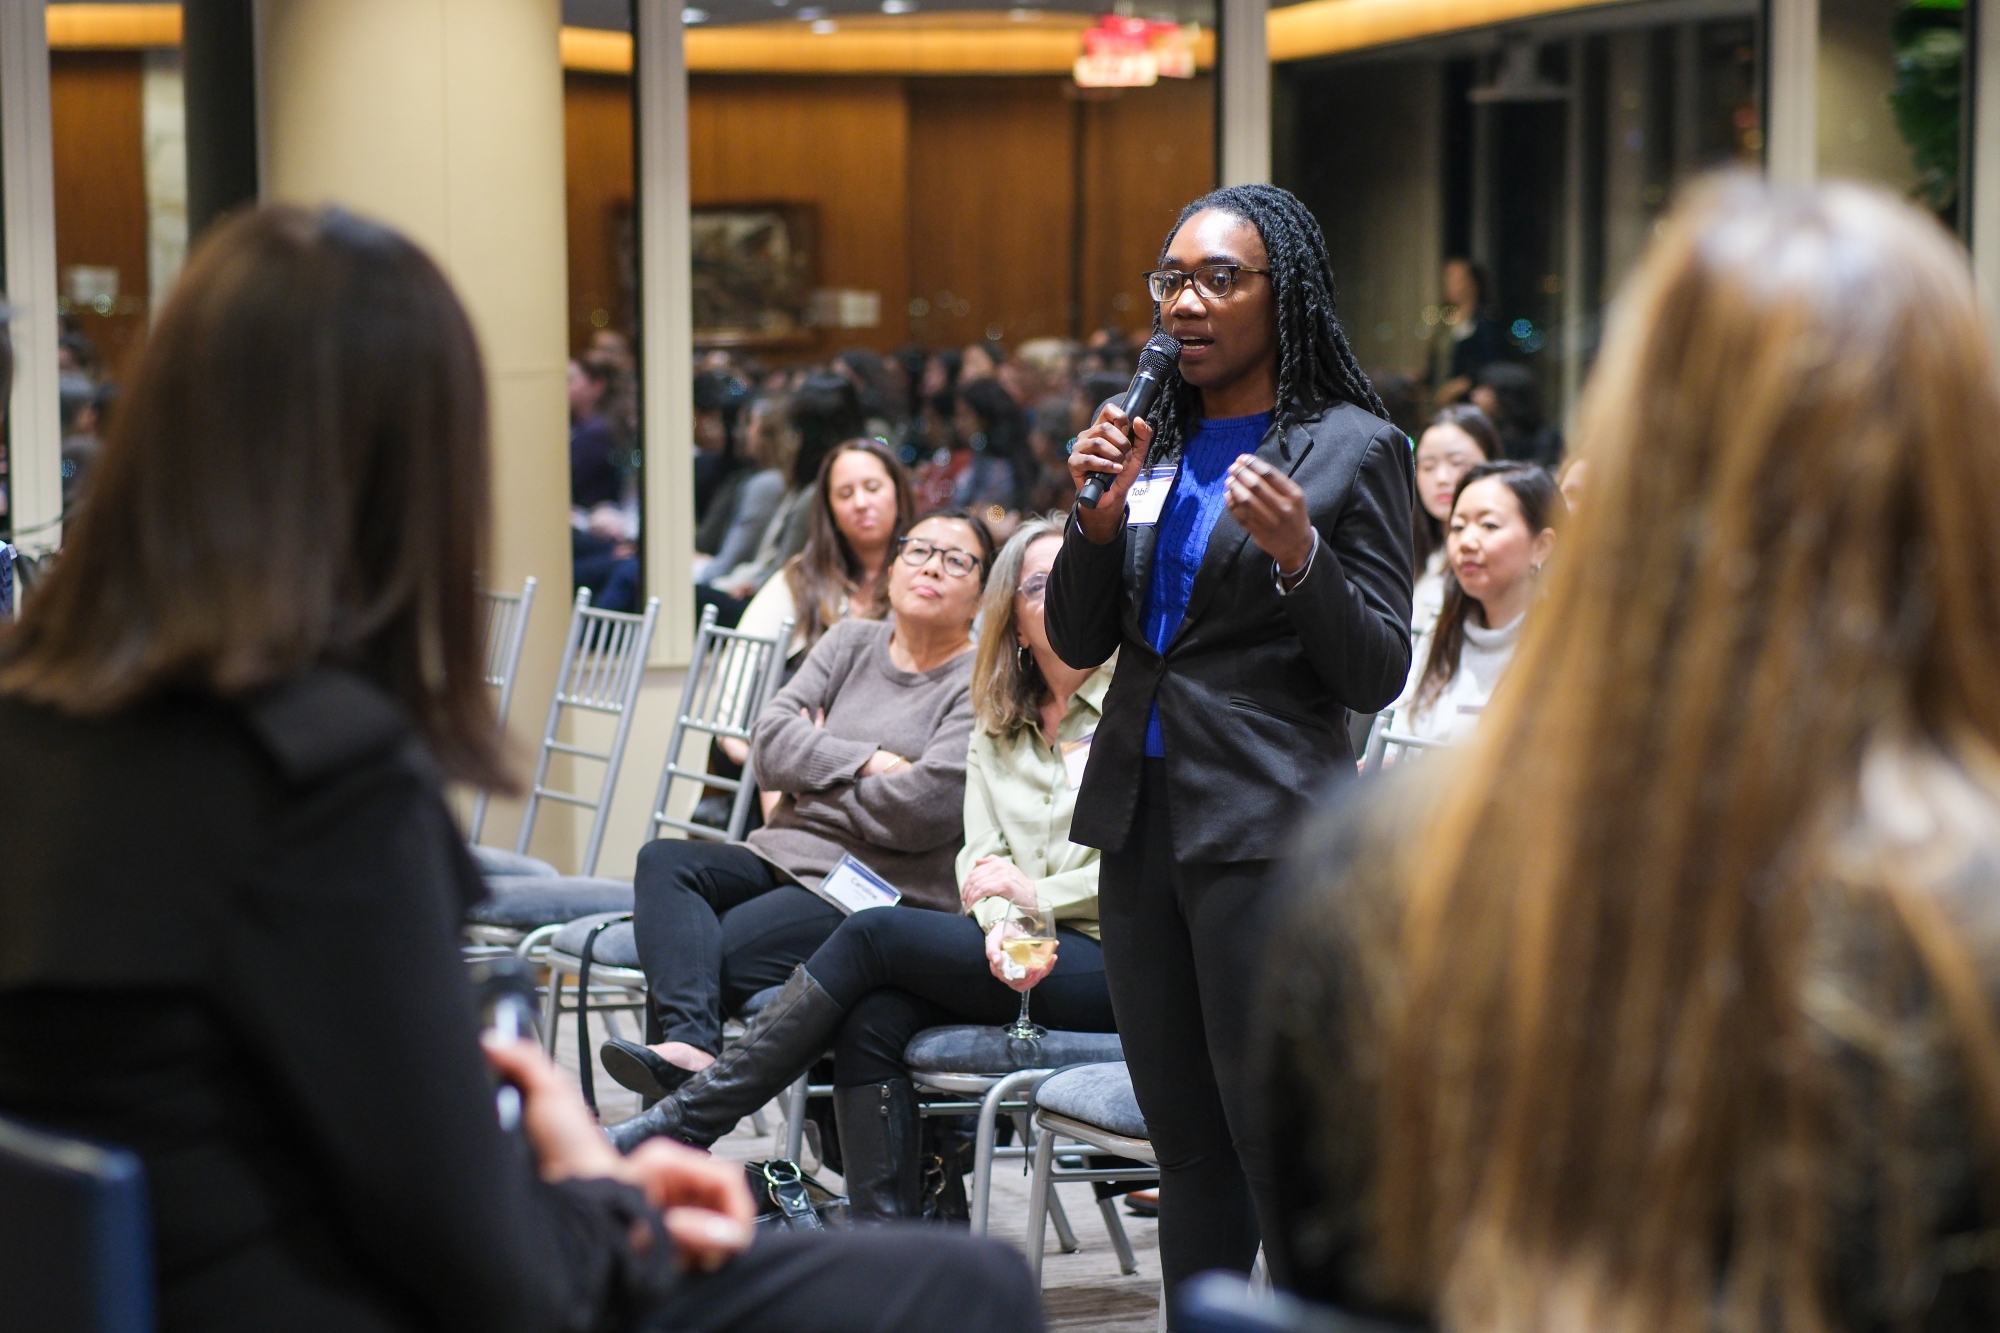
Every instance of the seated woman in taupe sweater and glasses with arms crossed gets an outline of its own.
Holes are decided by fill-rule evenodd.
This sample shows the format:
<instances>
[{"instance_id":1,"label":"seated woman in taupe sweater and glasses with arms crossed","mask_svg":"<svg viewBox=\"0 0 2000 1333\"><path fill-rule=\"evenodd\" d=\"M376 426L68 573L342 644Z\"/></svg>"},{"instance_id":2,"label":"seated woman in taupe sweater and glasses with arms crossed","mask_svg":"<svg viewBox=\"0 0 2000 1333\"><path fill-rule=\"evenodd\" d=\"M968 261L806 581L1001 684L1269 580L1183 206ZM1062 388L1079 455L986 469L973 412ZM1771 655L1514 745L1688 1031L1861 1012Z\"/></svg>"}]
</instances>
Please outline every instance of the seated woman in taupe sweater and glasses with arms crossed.
<instances>
[{"instance_id":1,"label":"seated woman in taupe sweater and glasses with arms crossed","mask_svg":"<svg viewBox=\"0 0 2000 1333\"><path fill-rule=\"evenodd\" d=\"M666 1091L722 1049L722 1019L826 943L822 881L852 859L902 903L958 911L972 735L972 618L992 536L932 514L898 540L890 620L840 620L756 723L758 787L784 793L740 845L660 839L638 855L632 935Z\"/></svg>"}]
</instances>

